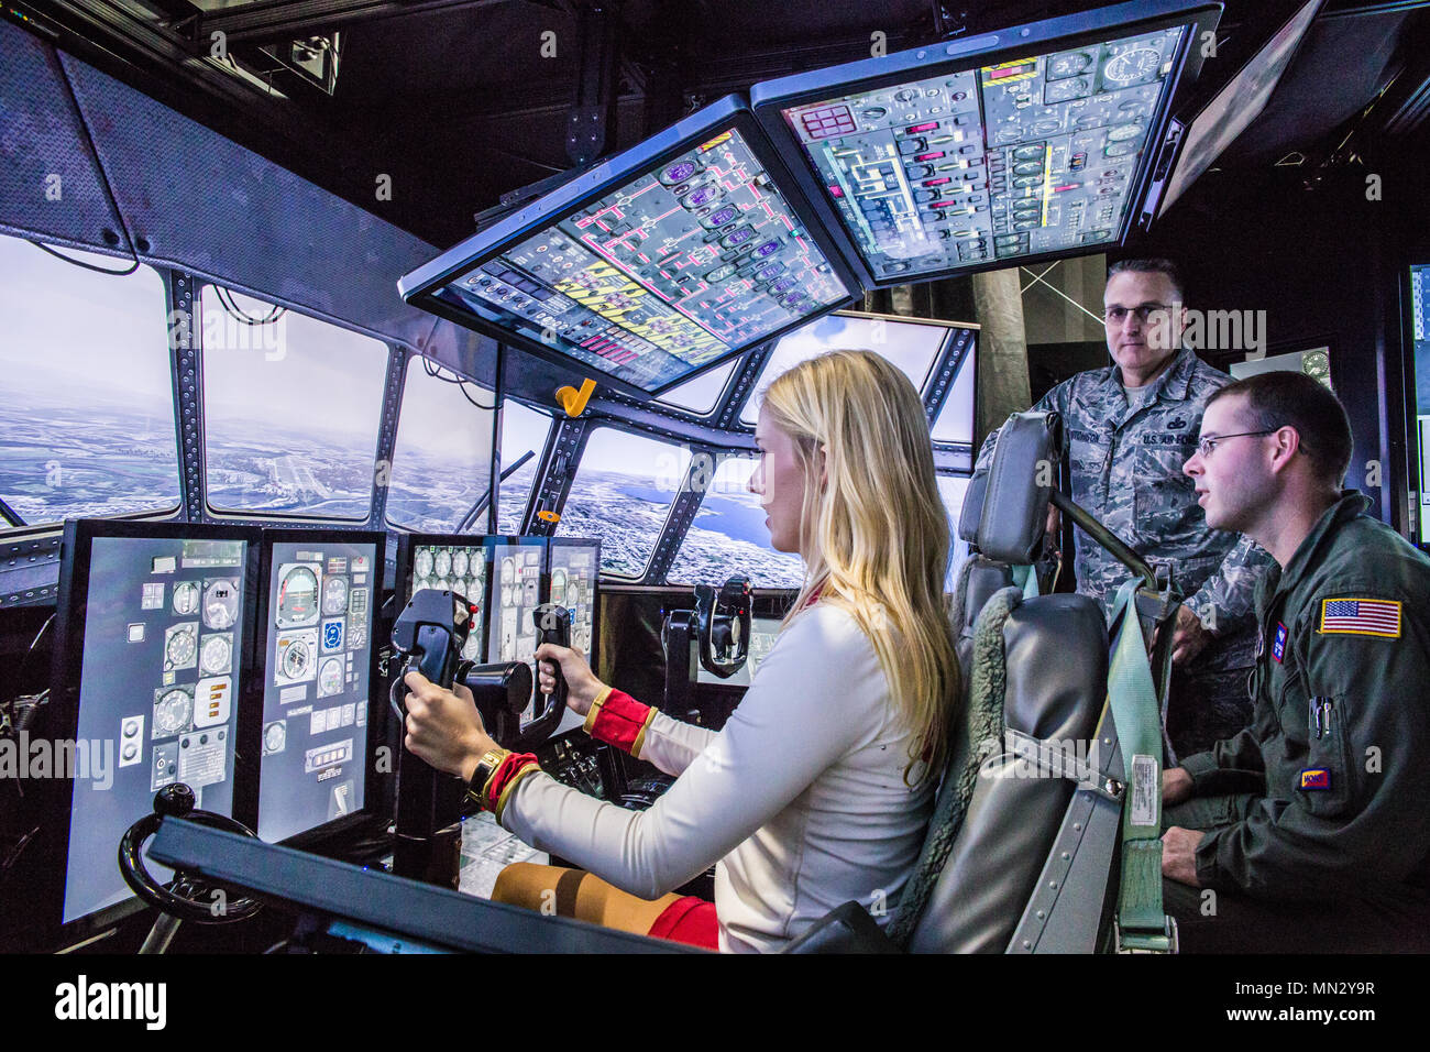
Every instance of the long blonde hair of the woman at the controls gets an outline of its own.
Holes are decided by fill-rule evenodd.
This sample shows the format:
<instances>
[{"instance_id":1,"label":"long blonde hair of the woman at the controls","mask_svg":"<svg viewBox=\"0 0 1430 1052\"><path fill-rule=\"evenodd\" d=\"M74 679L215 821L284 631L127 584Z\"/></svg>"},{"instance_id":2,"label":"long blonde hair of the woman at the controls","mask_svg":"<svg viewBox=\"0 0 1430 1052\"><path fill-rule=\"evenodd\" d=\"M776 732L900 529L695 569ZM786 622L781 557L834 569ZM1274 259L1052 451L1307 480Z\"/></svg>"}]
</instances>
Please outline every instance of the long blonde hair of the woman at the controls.
<instances>
[{"instance_id":1,"label":"long blonde hair of the woman at the controls","mask_svg":"<svg viewBox=\"0 0 1430 1052\"><path fill-rule=\"evenodd\" d=\"M778 376L764 408L794 438L805 482L805 580L785 623L817 591L819 603L847 610L914 731L905 781L921 761L922 774L937 771L960 670L944 603L948 514L918 392L872 351L829 351ZM828 487L819 481L821 448Z\"/></svg>"}]
</instances>

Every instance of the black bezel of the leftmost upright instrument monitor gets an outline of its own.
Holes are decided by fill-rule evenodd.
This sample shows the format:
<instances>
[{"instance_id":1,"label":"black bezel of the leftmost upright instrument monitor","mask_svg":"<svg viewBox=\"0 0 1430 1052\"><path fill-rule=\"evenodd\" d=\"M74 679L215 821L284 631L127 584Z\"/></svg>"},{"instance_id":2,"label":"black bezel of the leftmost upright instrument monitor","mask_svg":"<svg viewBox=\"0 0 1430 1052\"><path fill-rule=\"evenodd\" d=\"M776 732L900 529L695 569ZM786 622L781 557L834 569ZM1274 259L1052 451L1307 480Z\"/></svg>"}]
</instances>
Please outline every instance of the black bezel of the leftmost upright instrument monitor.
<instances>
[{"instance_id":1,"label":"black bezel of the leftmost upright instrument monitor","mask_svg":"<svg viewBox=\"0 0 1430 1052\"><path fill-rule=\"evenodd\" d=\"M79 734L80 687L84 666L84 628L89 620L90 557L97 538L134 540L199 540L199 541L245 541L243 588L245 601L240 608L243 643L236 656L240 684L233 694L235 741L233 741L233 806L232 817L250 824L245 812L245 800L256 792L257 767L246 766L243 756L243 697L249 680L253 678L255 635L257 633L256 590L257 554L262 544L262 530L250 525L229 525L212 522L176 522L173 520L66 520L60 541L60 580L56 588L54 650L50 664L50 700L46 704L46 729L51 740L74 740ZM64 920L64 896L69 883L70 833L73 826L74 779L53 777L44 783L40 799L41 813L51 819L51 834L40 854L46 860L46 872L51 875L34 895L39 925L37 939L66 946L79 945L104 935L126 917L149 909L147 903L134 895L123 902L104 906L92 913ZM134 820L144 817L136 814ZM119 843L114 843L114 860ZM117 863L114 863L117 866Z\"/></svg>"}]
</instances>

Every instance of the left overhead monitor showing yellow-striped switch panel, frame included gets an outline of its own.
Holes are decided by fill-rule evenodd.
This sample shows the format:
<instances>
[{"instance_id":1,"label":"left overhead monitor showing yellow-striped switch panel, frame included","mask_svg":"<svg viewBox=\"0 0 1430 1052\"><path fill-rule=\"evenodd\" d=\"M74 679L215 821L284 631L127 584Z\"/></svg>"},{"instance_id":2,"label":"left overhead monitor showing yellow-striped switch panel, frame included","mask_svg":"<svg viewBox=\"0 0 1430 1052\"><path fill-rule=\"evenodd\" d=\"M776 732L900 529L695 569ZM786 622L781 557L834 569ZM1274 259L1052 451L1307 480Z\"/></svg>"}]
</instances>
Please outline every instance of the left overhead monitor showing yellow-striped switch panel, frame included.
<instances>
[{"instance_id":1,"label":"left overhead monitor showing yellow-striped switch panel, frame included","mask_svg":"<svg viewBox=\"0 0 1430 1052\"><path fill-rule=\"evenodd\" d=\"M851 303L852 273L722 99L505 216L398 288L412 305L629 394Z\"/></svg>"}]
</instances>

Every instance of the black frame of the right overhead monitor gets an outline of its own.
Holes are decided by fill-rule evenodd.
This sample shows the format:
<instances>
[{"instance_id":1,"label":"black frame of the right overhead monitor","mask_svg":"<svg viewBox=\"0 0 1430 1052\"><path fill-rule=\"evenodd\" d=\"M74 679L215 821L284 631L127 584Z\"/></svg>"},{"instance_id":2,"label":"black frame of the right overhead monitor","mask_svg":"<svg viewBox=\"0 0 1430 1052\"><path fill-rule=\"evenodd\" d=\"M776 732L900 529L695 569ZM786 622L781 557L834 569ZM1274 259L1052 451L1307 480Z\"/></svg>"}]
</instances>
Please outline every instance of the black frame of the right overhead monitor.
<instances>
[{"instance_id":1,"label":"black frame of the right overhead monitor","mask_svg":"<svg viewBox=\"0 0 1430 1052\"><path fill-rule=\"evenodd\" d=\"M894 288L984 271L1028 266L1054 259L1067 259L1074 255L1108 252L1123 248L1134 228L1145 229L1148 225L1150 215L1147 213L1147 206L1148 202L1155 202L1154 183L1158 179L1165 180L1170 172L1168 150L1175 146L1175 143L1167 140L1167 132L1171 126L1177 92L1184 83L1195 80L1201 72L1201 50L1200 47L1194 47L1193 43L1200 40L1203 33L1213 30L1220 16L1220 3L1134 0L1133 3L1047 19L1027 26L1012 26L967 40L940 42L885 57L861 59L842 66L831 66L811 73L795 73L778 80L766 80L751 87L751 109L754 109L755 117L769 139L778 143L779 149L786 155L799 157L799 162L792 165L799 189L814 205L819 220L837 239L839 250L855 269L859 282L865 288ZM1115 239L1098 245L1077 246L1077 250L1064 248L1028 256L990 259L967 266L878 278L872 273L855 239L845 229L838 210L829 203L824 177L814 167L804 143L789 130L782 113L784 109L821 102L837 94L854 94L874 87L894 86L907 80L922 80L977 70L981 66L1025 57L1031 49L1045 53L1103 43L1110 30L1115 30L1118 36L1137 36L1188 23L1190 31L1177 44L1173 72L1167 79L1165 96L1158 110L1153 115L1153 125L1145 140L1147 147L1138 160L1127 196L1128 208L1117 229Z\"/></svg>"}]
</instances>

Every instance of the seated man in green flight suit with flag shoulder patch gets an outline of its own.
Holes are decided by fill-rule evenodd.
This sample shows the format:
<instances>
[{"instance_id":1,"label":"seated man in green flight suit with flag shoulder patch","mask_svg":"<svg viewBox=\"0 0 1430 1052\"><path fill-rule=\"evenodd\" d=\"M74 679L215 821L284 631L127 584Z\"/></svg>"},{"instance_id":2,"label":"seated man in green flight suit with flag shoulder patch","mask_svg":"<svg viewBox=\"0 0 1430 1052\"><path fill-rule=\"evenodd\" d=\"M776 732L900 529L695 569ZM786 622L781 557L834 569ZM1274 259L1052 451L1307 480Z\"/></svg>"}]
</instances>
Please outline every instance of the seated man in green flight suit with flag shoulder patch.
<instances>
[{"instance_id":1,"label":"seated man in green flight suit with flag shoulder patch","mask_svg":"<svg viewBox=\"0 0 1430 1052\"><path fill-rule=\"evenodd\" d=\"M1341 492L1350 452L1330 391L1268 372L1208 399L1185 464L1277 562L1253 726L1163 774L1187 950L1430 949L1430 560Z\"/></svg>"}]
</instances>

